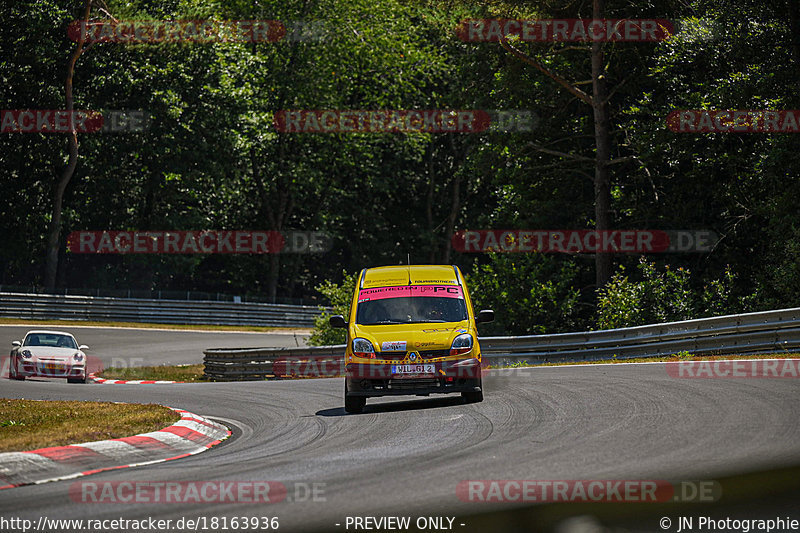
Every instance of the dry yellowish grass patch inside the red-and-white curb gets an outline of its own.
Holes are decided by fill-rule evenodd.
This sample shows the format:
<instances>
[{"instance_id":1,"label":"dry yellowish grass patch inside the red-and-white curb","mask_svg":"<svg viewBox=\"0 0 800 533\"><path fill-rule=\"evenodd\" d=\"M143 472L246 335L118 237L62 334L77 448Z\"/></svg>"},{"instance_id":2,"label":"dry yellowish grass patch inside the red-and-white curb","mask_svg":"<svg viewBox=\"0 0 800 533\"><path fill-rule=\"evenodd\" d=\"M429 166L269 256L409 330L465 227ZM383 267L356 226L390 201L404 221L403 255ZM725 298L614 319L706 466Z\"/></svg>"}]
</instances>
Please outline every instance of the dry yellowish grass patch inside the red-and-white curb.
<instances>
[{"instance_id":1,"label":"dry yellowish grass patch inside the red-and-white curb","mask_svg":"<svg viewBox=\"0 0 800 533\"><path fill-rule=\"evenodd\" d=\"M178 420L156 404L0 399L0 452L130 437Z\"/></svg>"}]
</instances>

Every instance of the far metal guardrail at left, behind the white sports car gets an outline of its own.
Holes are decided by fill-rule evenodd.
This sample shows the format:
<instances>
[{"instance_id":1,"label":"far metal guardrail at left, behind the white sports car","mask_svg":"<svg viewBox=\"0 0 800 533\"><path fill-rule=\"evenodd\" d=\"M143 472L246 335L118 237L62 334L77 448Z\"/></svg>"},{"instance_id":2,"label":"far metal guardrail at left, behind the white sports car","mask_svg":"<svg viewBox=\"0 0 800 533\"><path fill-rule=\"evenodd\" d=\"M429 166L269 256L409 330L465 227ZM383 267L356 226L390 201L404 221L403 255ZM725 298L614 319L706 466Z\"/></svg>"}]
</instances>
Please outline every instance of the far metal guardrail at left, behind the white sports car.
<instances>
[{"instance_id":1,"label":"far metal guardrail at left, behind the white sports car","mask_svg":"<svg viewBox=\"0 0 800 533\"><path fill-rule=\"evenodd\" d=\"M319 314L318 307L301 305L0 292L0 317L28 320L310 328Z\"/></svg>"}]
</instances>

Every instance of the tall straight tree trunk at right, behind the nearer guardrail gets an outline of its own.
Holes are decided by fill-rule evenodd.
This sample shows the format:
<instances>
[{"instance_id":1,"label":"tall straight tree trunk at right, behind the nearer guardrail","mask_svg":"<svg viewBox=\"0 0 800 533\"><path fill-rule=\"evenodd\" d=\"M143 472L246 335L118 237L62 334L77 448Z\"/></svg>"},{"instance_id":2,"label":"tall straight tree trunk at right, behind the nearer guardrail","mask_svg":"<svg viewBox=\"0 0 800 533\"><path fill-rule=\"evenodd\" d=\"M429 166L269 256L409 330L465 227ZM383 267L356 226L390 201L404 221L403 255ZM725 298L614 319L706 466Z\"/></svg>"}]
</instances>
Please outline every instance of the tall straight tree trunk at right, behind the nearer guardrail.
<instances>
[{"instance_id":1,"label":"tall straight tree trunk at right, behind the nearer guardrail","mask_svg":"<svg viewBox=\"0 0 800 533\"><path fill-rule=\"evenodd\" d=\"M593 18L602 19L605 0L594 0ZM595 229L611 229L611 180L608 162L611 157L611 134L608 116L608 86L603 58L603 43L592 43L592 108L594 111L595 169L594 169L594 216ZM595 254L597 289L605 286L611 278L613 255Z\"/></svg>"}]
</instances>

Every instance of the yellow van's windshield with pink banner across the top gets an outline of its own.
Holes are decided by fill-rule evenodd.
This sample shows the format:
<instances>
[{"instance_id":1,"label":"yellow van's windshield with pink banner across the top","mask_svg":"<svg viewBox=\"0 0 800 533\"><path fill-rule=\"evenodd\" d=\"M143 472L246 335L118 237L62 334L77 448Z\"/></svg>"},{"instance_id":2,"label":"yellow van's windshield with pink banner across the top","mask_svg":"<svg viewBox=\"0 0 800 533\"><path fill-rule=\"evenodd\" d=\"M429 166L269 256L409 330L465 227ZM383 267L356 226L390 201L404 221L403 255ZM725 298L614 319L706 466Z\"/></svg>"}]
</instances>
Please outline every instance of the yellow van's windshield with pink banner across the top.
<instances>
[{"instance_id":1,"label":"yellow van's windshield with pink banner across the top","mask_svg":"<svg viewBox=\"0 0 800 533\"><path fill-rule=\"evenodd\" d=\"M434 296L435 294L435 296ZM356 323L412 324L461 322L467 304L461 287L405 286L364 289L359 293Z\"/></svg>"}]
</instances>

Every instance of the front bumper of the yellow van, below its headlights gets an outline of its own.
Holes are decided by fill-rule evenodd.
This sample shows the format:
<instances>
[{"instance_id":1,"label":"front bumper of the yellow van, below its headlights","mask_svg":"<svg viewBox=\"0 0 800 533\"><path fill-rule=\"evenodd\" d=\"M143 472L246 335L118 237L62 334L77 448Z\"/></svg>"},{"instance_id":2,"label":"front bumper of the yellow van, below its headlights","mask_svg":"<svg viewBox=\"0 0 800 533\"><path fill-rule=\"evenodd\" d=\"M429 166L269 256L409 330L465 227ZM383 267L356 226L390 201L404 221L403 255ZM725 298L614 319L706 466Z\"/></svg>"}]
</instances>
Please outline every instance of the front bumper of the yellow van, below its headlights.
<instances>
[{"instance_id":1,"label":"front bumper of the yellow van, below its headlights","mask_svg":"<svg viewBox=\"0 0 800 533\"><path fill-rule=\"evenodd\" d=\"M478 359L440 361L433 374L392 373L396 363L350 363L345 369L347 393L351 396L395 396L449 394L481 390L481 362Z\"/></svg>"}]
</instances>

